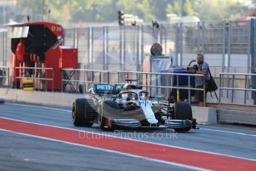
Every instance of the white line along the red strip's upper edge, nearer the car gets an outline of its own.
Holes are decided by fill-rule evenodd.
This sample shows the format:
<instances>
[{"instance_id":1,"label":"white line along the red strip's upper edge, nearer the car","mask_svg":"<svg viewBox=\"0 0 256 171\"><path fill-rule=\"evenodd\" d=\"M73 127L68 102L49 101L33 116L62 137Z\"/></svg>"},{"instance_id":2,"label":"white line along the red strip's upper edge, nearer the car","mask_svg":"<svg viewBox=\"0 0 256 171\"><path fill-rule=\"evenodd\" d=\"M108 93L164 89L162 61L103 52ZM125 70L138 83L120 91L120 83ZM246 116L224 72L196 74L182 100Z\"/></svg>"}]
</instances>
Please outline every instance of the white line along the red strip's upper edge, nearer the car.
<instances>
[{"instance_id":1,"label":"white line along the red strip's upper edge, nearer the car","mask_svg":"<svg viewBox=\"0 0 256 171\"><path fill-rule=\"evenodd\" d=\"M0 118L7 119L7 120L16 120L16 119L8 118L8 117L0 117ZM24 121L24 120L16 120L16 121L24 122L24 123L32 123L32 124L41 125L41 126L51 126L51 125L47 125L47 124L33 123L33 122ZM85 133L90 133L90 134L95 134L95 135L108 136L108 137L112 137L112 138L120 138L120 139L124 139L124 140L129 140L129 141L138 141L138 142L142 142L142 143L150 143L150 144L155 144L155 145L159 145L159 146L169 146L169 147L177 148L177 149L191 150L193 152L205 152L205 153L212 154L212 155L222 155L222 156L226 156L226 157L229 157L229 158L240 158L240 159L243 159L243 160L256 161L256 159L253 159L253 158L243 158L243 157L238 157L238 156L234 156L234 155L220 154L220 153L217 153L217 152L208 152L208 151L199 150L199 149L189 149L189 148L185 148L185 147L181 147L181 146L171 146L171 145L162 144L162 143L153 143L153 142L150 142L150 141L141 141L141 140L136 140L136 139L131 139L131 138L122 138L122 137L117 137L117 136L114 136L114 135L106 135L106 134L99 133L99 132L88 132L88 131L84 131L84 130L81 130L81 129L70 129L70 128L65 128L65 127L60 127L60 126L51 126L51 127L60 128L60 129L68 129L68 130L77 131L77 132L85 132Z\"/></svg>"}]
</instances>

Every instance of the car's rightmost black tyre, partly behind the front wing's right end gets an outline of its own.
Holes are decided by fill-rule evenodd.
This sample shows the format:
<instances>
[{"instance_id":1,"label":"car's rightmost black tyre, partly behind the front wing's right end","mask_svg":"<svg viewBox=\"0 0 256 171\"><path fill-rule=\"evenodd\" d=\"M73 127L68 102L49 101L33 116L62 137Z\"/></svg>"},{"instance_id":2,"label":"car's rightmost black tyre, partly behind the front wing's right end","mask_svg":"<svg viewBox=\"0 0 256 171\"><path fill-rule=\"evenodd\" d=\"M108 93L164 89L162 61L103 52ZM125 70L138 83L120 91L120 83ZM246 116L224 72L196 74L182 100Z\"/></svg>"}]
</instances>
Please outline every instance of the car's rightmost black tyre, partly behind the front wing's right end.
<instances>
[{"instance_id":1,"label":"car's rightmost black tyre, partly behind the front wing's right end","mask_svg":"<svg viewBox=\"0 0 256 171\"><path fill-rule=\"evenodd\" d=\"M176 102L173 105L173 119L176 120L192 120L192 109L187 102ZM191 126L174 129L176 132L188 132Z\"/></svg>"}]
</instances>

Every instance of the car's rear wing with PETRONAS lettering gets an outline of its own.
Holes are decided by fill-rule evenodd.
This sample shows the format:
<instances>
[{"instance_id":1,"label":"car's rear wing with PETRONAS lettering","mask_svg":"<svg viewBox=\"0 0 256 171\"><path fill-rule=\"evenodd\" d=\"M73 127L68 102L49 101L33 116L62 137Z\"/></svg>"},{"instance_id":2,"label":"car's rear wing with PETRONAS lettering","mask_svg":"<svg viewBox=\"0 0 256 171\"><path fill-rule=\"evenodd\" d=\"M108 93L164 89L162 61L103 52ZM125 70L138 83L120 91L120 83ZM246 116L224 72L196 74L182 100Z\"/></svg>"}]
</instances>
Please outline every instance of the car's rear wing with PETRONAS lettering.
<instances>
[{"instance_id":1,"label":"car's rear wing with PETRONAS lettering","mask_svg":"<svg viewBox=\"0 0 256 171\"><path fill-rule=\"evenodd\" d=\"M93 84L91 88L92 94L118 94L124 85L109 85L109 84Z\"/></svg>"}]
</instances>

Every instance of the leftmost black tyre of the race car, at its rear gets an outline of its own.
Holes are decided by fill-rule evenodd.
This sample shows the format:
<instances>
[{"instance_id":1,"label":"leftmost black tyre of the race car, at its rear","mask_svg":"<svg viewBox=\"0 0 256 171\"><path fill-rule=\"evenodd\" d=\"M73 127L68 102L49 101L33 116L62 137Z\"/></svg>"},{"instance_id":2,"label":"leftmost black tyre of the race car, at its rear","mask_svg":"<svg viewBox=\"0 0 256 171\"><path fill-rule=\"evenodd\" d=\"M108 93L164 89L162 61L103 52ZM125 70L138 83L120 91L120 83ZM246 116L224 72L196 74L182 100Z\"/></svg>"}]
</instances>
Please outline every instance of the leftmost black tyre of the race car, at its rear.
<instances>
[{"instance_id":1,"label":"leftmost black tyre of the race car, at its rear","mask_svg":"<svg viewBox=\"0 0 256 171\"><path fill-rule=\"evenodd\" d=\"M86 118L86 116L95 115L97 112L92 106L92 101L89 99L76 99L72 107L72 123L74 126L86 126L90 127L93 125L93 120Z\"/></svg>"}]
</instances>

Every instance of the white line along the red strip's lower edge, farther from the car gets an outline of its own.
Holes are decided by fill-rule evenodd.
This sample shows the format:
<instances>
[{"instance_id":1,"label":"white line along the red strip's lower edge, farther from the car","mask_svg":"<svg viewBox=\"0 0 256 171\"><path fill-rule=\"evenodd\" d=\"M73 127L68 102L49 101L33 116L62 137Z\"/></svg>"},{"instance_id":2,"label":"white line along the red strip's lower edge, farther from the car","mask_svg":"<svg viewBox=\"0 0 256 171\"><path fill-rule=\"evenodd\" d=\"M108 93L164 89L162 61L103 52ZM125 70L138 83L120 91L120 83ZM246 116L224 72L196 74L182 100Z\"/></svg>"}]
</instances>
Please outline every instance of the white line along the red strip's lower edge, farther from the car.
<instances>
[{"instance_id":1,"label":"white line along the red strip's lower edge, farther from the car","mask_svg":"<svg viewBox=\"0 0 256 171\"><path fill-rule=\"evenodd\" d=\"M127 155L127 156L133 157L133 158L142 158L142 159L145 159L145 160L148 160L148 161L156 161L156 162L160 162L160 163L163 163L163 164L170 164L170 165L173 165L173 166L176 166L176 167L183 167L183 168L186 168L186 169L189 169L189 170L202 170L202 171L206 170L206 169L203 169L203 168L200 168L200 167L192 167L192 166L189 166L189 165L186 165L186 164L177 164L177 163L170 162L170 161L161 161L161 160L158 160L158 159L147 158L147 157L143 157L143 156L140 156L140 155L132 155L132 154L129 154L129 153L126 153L126 152L118 152L118 151L114 151L114 150L111 150L111 149L101 149L99 147L87 146L87 145L82 145L82 144L79 144L79 143L71 143L71 142L67 142L67 141L56 140L56 139L53 139L53 138L45 138L45 137L36 136L36 135L29 135L29 134L24 134L24 133L20 133L20 132L13 132L13 131L10 131L10 130L7 130L7 129L0 129L0 131L12 132L12 133L15 133L15 134L18 134L18 135L26 135L26 136L29 136L29 137L40 138L40 139L44 139L44 140L48 140L48 141L68 143L70 145L75 145L75 146L83 146L83 147L87 147L87 148L90 148L90 149L101 150L101 151L104 151L104 152L113 152L113 153L116 153L116 154L119 154L119 155Z\"/></svg>"}]
</instances>

